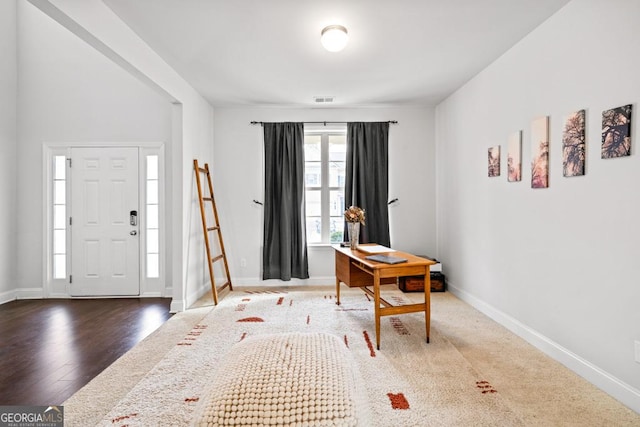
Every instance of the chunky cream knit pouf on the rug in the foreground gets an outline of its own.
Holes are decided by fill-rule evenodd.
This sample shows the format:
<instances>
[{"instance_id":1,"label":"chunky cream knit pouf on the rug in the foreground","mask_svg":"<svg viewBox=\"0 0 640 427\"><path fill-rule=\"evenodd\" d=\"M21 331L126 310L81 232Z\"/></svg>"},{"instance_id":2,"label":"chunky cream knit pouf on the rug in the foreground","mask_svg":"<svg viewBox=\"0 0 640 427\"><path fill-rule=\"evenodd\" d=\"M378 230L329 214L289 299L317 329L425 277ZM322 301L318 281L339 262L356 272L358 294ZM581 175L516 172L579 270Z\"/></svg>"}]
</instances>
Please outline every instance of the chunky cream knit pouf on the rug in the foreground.
<instances>
[{"instance_id":1,"label":"chunky cream knit pouf on the rug in the foreground","mask_svg":"<svg viewBox=\"0 0 640 427\"><path fill-rule=\"evenodd\" d=\"M352 355L336 336L290 333L236 344L201 400L198 426L356 426Z\"/></svg>"}]
</instances>

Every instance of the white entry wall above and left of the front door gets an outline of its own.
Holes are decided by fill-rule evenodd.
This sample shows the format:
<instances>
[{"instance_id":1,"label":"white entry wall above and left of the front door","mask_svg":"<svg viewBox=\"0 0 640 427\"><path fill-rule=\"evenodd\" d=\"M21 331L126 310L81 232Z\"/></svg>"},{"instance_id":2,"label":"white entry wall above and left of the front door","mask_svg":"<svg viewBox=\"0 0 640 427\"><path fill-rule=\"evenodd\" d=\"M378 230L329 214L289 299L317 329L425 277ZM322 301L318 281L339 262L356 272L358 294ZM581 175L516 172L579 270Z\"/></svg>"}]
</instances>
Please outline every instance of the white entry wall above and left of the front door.
<instances>
[{"instance_id":1,"label":"white entry wall above and left of the front door","mask_svg":"<svg viewBox=\"0 0 640 427\"><path fill-rule=\"evenodd\" d=\"M18 284L41 292L43 144L165 143L170 104L28 2L19 2ZM155 289L162 293L163 289Z\"/></svg>"}]
</instances>

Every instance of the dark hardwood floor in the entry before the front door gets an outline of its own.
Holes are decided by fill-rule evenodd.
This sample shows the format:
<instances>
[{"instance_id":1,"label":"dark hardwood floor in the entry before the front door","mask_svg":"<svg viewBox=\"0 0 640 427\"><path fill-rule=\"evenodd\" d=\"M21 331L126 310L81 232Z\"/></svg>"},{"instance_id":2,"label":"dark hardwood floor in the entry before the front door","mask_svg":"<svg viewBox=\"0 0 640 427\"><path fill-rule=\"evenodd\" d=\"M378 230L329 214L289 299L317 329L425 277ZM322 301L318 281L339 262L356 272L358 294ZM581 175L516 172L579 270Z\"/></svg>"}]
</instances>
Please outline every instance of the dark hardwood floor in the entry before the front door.
<instances>
[{"instance_id":1,"label":"dark hardwood floor in the entry before the front door","mask_svg":"<svg viewBox=\"0 0 640 427\"><path fill-rule=\"evenodd\" d=\"M167 298L0 305L0 405L60 405L171 317Z\"/></svg>"}]
</instances>

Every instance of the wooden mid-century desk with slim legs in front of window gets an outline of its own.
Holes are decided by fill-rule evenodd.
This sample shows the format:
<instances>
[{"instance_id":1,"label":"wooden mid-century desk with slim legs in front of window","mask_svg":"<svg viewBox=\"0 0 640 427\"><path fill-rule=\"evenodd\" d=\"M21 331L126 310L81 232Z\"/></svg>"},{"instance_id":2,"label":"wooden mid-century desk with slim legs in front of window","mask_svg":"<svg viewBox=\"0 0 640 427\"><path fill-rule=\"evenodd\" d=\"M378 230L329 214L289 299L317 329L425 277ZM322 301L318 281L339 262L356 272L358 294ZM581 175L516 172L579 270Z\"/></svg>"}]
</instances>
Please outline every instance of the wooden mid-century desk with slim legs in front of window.
<instances>
[{"instance_id":1,"label":"wooden mid-century desk with slim legs in front of window","mask_svg":"<svg viewBox=\"0 0 640 427\"><path fill-rule=\"evenodd\" d=\"M367 246L367 245L360 245ZM380 350L380 317L395 314L416 313L424 311L427 342L429 342L429 329L431 326L431 274L429 266L434 261L420 258L415 255L393 251L386 255L406 258L407 262L399 264L386 264L366 259L371 255L361 250L352 251L349 248L333 246L336 252L336 304L340 305L340 282L349 287L361 288L371 295L374 301L376 321L376 346ZM424 276L424 302L419 304L392 305L380 298L380 285L396 283L402 276ZM369 286L373 287L369 289ZM382 306L382 307L381 307Z\"/></svg>"}]
</instances>

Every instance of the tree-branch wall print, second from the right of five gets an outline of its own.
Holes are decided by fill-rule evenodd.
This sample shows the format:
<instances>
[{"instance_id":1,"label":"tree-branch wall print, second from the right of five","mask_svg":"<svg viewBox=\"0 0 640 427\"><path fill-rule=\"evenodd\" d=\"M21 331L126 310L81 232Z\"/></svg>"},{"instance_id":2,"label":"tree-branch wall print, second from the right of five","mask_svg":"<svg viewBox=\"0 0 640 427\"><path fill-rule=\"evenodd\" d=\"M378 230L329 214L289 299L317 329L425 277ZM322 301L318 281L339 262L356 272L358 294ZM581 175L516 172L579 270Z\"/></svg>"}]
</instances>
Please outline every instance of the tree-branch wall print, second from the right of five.
<instances>
[{"instance_id":1,"label":"tree-branch wall print, second from the right of five","mask_svg":"<svg viewBox=\"0 0 640 427\"><path fill-rule=\"evenodd\" d=\"M585 110L580 110L569 114L564 120L562 131L562 174L564 176L584 175L585 150Z\"/></svg>"}]
</instances>

